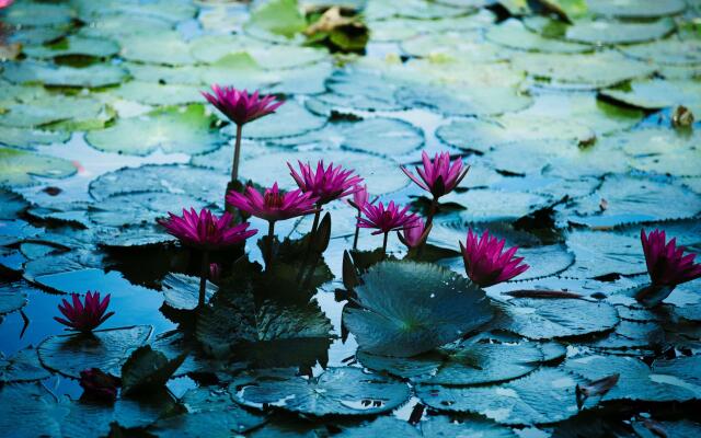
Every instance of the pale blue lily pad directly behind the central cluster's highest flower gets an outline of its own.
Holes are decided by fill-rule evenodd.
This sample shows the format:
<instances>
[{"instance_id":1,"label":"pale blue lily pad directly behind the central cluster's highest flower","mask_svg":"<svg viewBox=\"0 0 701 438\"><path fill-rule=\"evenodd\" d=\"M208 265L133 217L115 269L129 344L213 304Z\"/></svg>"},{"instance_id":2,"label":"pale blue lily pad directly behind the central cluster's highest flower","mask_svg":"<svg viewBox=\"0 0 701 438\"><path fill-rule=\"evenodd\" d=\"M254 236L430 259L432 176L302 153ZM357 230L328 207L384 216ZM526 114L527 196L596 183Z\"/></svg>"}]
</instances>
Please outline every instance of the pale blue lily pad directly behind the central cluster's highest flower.
<instances>
[{"instance_id":1,"label":"pale blue lily pad directly behind the central cluster's highest flower","mask_svg":"<svg viewBox=\"0 0 701 438\"><path fill-rule=\"evenodd\" d=\"M393 160L348 151L324 151L322 153L325 163L333 162L334 165L341 164L344 169L355 170L365 180L368 187L372 187L375 194L394 192L409 184L406 175L402 173L399 164ZM295 165L298 160L303 163L317 163L320 158L322 158L320 152L313 150L266 153L242 162L240 172L245 178L251 178L261 185L272 186L277 181L281 188L296 188L294 181L284 177L289 171L285 163ZM388 172L388 170L390 171Z\"/></svg>"}]
</instances>

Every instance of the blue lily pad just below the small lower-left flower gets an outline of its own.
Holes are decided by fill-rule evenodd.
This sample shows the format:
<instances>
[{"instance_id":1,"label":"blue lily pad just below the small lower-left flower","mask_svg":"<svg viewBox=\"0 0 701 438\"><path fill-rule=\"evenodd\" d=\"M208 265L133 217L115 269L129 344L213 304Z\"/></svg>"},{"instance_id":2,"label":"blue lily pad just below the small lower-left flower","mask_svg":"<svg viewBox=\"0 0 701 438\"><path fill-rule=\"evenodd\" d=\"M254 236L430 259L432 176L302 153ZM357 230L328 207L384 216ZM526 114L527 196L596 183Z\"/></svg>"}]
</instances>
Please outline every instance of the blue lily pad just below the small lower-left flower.
<instances>
[{"instance_id":1,"label":"blue lily pad just below the small lower-left flower","mask_svg":"<svg viewBox=\"0 0 701 438\"><path fill-rule=\"evenodd\" d=\"M54 335L39 344L39 360L46 368L74 379L88 368L120 376L130 351L143 345L150 335L150 325L100 330L92 335Z\"/></svg>"}]
</instances>

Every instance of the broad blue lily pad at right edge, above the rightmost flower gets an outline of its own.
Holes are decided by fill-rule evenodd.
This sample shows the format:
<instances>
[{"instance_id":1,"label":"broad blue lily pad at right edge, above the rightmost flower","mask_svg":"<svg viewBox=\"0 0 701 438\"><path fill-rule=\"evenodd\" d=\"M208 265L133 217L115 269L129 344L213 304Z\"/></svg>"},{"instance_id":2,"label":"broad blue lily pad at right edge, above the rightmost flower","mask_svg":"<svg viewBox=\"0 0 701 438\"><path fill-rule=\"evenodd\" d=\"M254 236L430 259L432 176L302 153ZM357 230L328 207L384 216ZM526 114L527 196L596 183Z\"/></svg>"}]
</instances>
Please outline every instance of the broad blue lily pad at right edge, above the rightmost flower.
<instances>
[{"instance_id":1,"label":"broad blue lily pad at right edge, above the rightmost flower","mask_svg":"<svg viewBox=\"0 0 701 438\"><path fill-rule=\"evenodd\" d=\"M668 199L676 199L669 204ZM601 208L602 203L606 207ZM701 212L701 198L686 187L650 178L611 175L572 205L567 220L590 228L686 219Z\"/></svg>"}]
</instances>

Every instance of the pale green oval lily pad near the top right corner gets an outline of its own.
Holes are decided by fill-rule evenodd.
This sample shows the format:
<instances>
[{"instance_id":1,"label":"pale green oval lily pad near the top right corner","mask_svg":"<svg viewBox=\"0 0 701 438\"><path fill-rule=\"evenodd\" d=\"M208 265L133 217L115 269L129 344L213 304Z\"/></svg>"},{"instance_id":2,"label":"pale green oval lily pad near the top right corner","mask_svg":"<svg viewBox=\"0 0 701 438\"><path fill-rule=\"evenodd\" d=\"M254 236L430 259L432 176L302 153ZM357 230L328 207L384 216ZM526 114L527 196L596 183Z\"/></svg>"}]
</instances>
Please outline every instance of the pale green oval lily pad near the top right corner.
<instances>
[{"instance_id":1,"label":"pale green oval lily pad near the top right corner","mask_svg":"<svg viewBox=\"0 0 701 438\"><path fill-rule=\"evenodd\" d=\"M588 44L631 44L658 39L674 32L675 22L662 19L647 23L625 23L618 21L576 21L567 27L567 39Z\"/></svg>"}]
</instances>

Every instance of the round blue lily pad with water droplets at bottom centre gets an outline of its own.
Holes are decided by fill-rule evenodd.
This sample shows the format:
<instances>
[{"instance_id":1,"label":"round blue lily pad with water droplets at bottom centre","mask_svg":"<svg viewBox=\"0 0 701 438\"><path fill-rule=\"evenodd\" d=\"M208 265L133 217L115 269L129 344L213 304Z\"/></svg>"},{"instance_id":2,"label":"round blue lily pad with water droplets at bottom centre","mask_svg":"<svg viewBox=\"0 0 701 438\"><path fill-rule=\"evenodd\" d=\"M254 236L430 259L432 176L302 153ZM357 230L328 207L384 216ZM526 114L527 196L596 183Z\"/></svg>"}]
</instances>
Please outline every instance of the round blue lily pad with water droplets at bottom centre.
<instances>
[{"instance_id":1,"label":"round blue lily pad with water droplets at bottom centre","mask_svg":"<svg viewBox=\"0 0 701 438\"><path fill-rule=\"evenodd\" d=\"M244 406L261 404L295 413L324 415L371 415L392 411L409 400L402 383L359 368L327 368L312 379L286 372L246 372L231 382L232 399Z\"/></svg>"}]
</instances>

